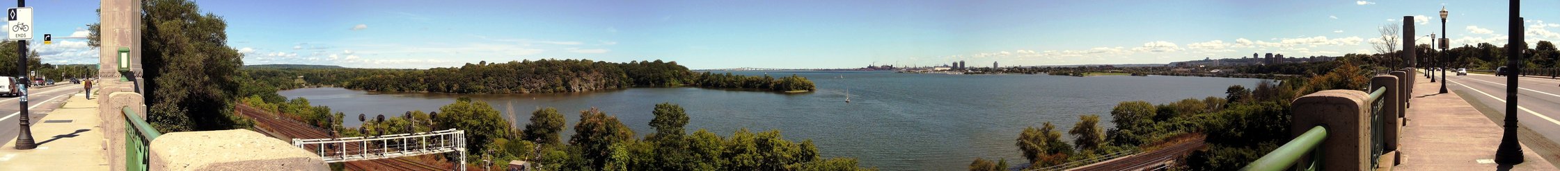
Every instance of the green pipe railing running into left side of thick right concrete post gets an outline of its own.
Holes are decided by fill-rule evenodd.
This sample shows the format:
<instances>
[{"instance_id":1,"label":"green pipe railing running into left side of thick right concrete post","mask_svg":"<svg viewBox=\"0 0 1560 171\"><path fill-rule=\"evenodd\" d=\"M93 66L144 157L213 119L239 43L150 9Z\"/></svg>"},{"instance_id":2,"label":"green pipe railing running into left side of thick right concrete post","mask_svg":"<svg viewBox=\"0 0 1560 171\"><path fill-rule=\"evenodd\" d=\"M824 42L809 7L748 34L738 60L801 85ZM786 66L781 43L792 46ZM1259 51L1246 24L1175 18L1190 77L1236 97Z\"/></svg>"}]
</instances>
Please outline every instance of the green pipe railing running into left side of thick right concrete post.
<instances>
[{"instance_id":1,"label":"green pipe railing running into left side of thick right concrete post","mask_svg":"<svg viewBox=\"0 0 1560 171\"><path fill-rule=\"evenodd\" d=\"M1299 137L1295 137L1295 140L1284 143L1284 146L1278 146L1278 149L1273 149L1273 152L1262 155L1262 159L1257 159L1256 162L1251 162L1251 165L1246 165L1246 168L1240 169L1282 171L1299 162L1299 157L1306 157L1307 152L1310 152L1312 157L1310 163L1306 168L1315 169L1317 162L1320 162L1318 160L1320 155L1317 155L1315 152L1321 145L1321 140L1328 140L1328 127L1324 126L1310 127L1310 131L1306 131L1306 134L1299 134Z\"/></svg>"}]
</instances>

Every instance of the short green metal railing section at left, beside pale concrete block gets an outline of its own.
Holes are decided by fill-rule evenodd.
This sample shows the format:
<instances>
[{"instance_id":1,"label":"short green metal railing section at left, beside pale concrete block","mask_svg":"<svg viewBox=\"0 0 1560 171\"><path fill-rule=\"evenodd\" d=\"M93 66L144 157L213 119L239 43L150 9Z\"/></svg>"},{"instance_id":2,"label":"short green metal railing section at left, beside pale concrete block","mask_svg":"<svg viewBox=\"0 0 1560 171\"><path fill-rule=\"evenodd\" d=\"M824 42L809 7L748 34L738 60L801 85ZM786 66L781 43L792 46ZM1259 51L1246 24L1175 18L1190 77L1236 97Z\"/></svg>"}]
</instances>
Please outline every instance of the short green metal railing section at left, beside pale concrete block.
<instances>
[{"instance_id":1,"label":"short green metal railing section at left, beside pale concrete block","mask_svg":"<svg viewBox=\"0 0 1560 171\"><path fill-rule=\"evenodd\" d=\"M126 171L147 171L150 157L148 149L151 148L151 140L156 140L162 132L153 129L136 110L129 106L123 107L125 113L125 169Z\"/></svg>"}]
</instances>

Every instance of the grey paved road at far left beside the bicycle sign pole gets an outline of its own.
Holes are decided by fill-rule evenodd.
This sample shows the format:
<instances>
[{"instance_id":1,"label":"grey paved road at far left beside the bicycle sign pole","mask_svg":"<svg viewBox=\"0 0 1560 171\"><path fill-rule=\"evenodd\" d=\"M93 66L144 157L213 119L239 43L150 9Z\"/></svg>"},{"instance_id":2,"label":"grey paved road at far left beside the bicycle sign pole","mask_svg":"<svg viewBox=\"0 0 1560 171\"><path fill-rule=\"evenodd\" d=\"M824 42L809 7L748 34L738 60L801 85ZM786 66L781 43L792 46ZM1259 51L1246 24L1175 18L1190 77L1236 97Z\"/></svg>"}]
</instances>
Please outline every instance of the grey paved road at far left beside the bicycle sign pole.
<instances>
[{"instance_id":1,"label":"grey paved road at far left beside the bicycle sign pole","mask_svg":"<svg viewBox=\"0 0 1560 171\"><path fill-rule=\"evenodd\" d=\"M55 87L33 89L28 92L27 103L31 106L27 112L30 113L30 123L37 126L39 118L55 107L59 107L69 95L81 93L81 84L61 84ZM98 96L92 96L94 99ZM0 145L16 140L16 131L20 127L17 121L22 120L20 115L20 99L17 98L0 98ZM48 138L48 137L42 137ZM39 140L39 135L33 135L33 140Z\"/></svg>"}]
</instances>

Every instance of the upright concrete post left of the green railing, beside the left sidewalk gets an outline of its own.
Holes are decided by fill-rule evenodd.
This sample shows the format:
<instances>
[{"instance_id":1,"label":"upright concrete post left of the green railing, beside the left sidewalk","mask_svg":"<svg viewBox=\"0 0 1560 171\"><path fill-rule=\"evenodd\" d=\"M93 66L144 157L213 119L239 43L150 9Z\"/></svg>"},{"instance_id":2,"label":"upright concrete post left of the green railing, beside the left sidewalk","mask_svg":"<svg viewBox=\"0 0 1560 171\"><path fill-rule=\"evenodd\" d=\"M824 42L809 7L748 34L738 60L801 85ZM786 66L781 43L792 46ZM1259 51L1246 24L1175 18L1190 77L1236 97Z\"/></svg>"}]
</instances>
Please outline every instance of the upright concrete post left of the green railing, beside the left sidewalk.
<instances>
[{"instance_id":1,"label":"upright concrete post left of the green railing, beside the left sidewalk","mask_svg":"<svg viewBox=\"0 0 1560 171\"><path fill-rule=\"evenodd\" d=\"M98 118L103 118L98 126L103 127L103 138L106 138L105 146L108 146L109 168L125 169L125 115L123 109L129 106L136 113L140 113L140 120L147 120L147 109L144 106L144 96L134 92L112 92L108 98L101 98L98 106Z\"/></svg>"}]
</instances>

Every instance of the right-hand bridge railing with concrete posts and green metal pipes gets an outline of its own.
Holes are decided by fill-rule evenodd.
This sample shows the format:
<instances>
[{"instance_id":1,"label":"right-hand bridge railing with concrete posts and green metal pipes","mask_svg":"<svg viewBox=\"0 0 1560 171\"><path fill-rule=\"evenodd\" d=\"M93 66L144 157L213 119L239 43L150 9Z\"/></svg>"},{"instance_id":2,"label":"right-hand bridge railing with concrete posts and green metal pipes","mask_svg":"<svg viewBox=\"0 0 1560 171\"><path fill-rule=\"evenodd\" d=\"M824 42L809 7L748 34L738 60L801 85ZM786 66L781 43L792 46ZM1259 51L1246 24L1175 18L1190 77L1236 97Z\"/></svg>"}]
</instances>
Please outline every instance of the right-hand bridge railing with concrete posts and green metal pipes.
<instances>
[{"instance_id":1,"label":"right-hand bridge railing with concrete posts and green metal pipes","mask_svg":"<svg viewBox=\"0 0 1560 171\"><path fill-rule=\"evenodd\" d=\"M1415 73L1373 75L1370 92L1321 90L1296 98L1290 109L1295 138L1245 169L1363 171L1401 163L1398 140Z\"/></svg>"}]
</instances>

